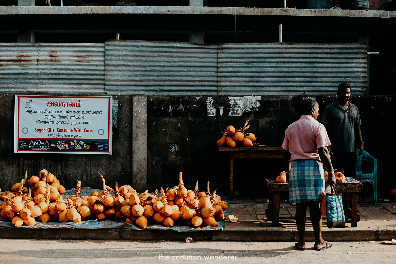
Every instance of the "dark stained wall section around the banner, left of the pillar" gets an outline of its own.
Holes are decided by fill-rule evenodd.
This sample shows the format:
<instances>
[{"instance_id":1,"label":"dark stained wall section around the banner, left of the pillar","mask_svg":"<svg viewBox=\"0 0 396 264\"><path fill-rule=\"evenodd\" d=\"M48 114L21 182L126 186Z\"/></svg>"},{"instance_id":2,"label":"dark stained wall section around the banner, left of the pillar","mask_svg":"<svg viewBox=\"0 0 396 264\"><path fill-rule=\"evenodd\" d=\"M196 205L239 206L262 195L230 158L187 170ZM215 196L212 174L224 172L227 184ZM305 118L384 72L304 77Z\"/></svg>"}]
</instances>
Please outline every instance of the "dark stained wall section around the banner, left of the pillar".
<instances>
[{"instance_id":1,"label":"dark stained wall section around the banner, left of the pillar","mask_svg":"<svg viewBox=\"0 0 396 264\"><path fill-rule=\"evenodd\" d=\"M74 188L78 180L82 186L102 188L98 172L109 186L115 182L132 182L132 96L118 99L118 127L113 127L112 155L102 154L16 154L13 151L14 95L0 95L0 188L10 190L25 171L29 177L41 169L53 173L66 189ZM123 183L124 184L124 183Z\"/></svg>"}]
</instances>

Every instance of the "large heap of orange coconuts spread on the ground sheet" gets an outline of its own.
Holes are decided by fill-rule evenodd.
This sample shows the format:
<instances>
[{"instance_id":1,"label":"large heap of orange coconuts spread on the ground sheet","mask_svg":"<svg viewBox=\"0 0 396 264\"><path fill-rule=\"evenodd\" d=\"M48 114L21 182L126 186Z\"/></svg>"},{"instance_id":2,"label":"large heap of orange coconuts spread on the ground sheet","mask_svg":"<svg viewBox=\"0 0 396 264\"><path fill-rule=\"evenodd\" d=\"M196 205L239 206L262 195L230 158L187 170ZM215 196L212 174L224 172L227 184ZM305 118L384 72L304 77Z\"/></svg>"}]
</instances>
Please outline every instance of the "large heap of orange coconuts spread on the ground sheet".
<instances>
[{"instance_id":1,"label":"large heap of orange coconuts spread on the ground sheet","mask_svg":"<svg viewBox=\"0 0 396 264\"><path fill-rule=\"evenodd\" d=\"M139 194L127 184L118 187L116 183L112 189L99 175L103 183L102 192L92 192L90 196L80 195L81 181L78 181L74 194L63 197L63 186L48 171L40 171L38 177L32 176L29 184L33 186L29 189L24 184L27 177L25 173L25 180L13 186L14 190L15 186L18 187L17 192L0 194L5 202L0 206L1 217L12 221L14 226L34 225L36 220L79 223L94 216L99 221L126 221L140 228L146 228L150 221L166 227L173 226L175 222L198 227L217 226L217 221L224 220L223 212L228 209L227 202L222 201L216 191L210 192L209 182L207 192L198 191L198 181L194 190L187 190L182 173L179 173L177 186L167 188L166 192L160 189L160 197L157 190L154 194L148 193L148 190ZM51 185L47 180L52 181Z\"/></svg>"}]
</instances>

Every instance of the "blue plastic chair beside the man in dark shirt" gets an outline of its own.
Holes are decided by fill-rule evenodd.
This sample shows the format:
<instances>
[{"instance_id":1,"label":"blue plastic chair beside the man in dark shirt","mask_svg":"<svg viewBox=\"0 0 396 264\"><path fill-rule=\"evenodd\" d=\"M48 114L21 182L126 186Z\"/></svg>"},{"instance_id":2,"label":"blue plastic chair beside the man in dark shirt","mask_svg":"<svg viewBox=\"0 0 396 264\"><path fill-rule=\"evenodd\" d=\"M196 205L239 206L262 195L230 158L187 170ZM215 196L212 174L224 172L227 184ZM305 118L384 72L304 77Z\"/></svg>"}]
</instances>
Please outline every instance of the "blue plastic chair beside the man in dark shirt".
<instances>
[{"instance_id":1,"label":"blue plastic chair beside the man in dark shirt","mask_svg":"<svg viewBox=\"0 0 396 264\"><path fill-rule=\"evenodd\" d=\"M374 171L371 173L362 173L362 161L368 161L374 165ZM373 186L373 200L374 204L377 202L377 159L363 151L363 154L359 156L359 152L356 152L356 180L361 182L370 182Z\"/></svg>"}]
</instances>

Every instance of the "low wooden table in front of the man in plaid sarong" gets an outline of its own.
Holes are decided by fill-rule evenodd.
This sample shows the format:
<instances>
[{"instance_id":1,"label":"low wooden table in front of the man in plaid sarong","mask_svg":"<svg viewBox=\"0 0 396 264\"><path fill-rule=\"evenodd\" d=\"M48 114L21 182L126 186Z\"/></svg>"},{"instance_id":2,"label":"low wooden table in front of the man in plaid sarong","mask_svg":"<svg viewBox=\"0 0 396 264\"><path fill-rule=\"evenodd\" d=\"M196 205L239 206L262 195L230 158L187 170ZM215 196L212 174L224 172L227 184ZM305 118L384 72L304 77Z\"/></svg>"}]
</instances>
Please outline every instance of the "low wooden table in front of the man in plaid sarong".
<instances>
[{"instance_id":1,"label":"low wooden table in front of the man in plaid sarong","mask_svg":"<svg viewBox=\"0 0 396 264\"><path fill-rule=\"evenodd\" d=\"M275 180L266 180L265 185L267 186L268 190L270 190L268 209L265 210L265 215L267 216L268 221L272 221L273 227L278 227L280 193L289 192L289 184L277 183ZM329 184L326 183L326 188L327 186L329 186ZM358 214L358 192L363 190L363 185L361 183L340 182L335 184L335 190L337 190L338 193L342 193L345 220L350 218L350 227L356 227L357 222L360 221L360 215ZM349 204L351 204L351 208L349 208Z\"/></svg>"}]
</instances>

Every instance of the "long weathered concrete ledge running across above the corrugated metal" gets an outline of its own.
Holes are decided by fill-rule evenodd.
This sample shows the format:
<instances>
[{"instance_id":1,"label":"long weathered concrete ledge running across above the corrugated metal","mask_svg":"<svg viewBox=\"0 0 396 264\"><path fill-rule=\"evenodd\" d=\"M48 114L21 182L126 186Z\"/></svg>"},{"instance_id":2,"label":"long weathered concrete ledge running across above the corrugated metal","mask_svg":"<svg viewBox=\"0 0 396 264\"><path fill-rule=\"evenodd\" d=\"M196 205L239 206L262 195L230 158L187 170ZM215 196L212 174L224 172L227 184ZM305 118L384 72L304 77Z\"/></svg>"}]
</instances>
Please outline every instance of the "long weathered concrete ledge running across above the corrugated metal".
<instances>
[{"instance_id":1,"label":"long weathered concrete ledge running across above the corrugated metal","mask_svg":"<svg viewBox=\"0 0 396 264\"><path fill-rule=\"evenodd\" d=\"M202 14L305 17L396 18L396 11L314 10L294 8L229 8L211 6L2 6L0 15L77 14Z\"/></svg>"}]
</instances>

